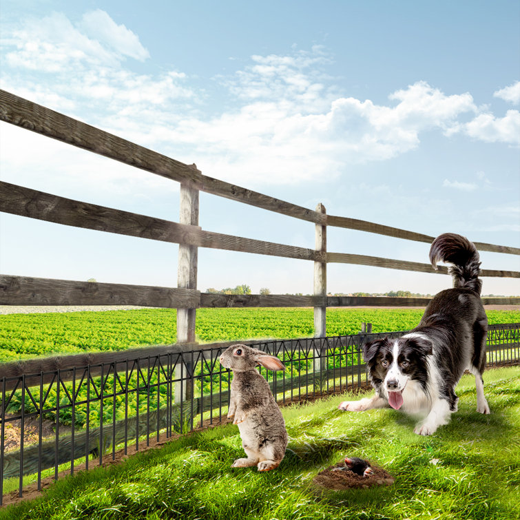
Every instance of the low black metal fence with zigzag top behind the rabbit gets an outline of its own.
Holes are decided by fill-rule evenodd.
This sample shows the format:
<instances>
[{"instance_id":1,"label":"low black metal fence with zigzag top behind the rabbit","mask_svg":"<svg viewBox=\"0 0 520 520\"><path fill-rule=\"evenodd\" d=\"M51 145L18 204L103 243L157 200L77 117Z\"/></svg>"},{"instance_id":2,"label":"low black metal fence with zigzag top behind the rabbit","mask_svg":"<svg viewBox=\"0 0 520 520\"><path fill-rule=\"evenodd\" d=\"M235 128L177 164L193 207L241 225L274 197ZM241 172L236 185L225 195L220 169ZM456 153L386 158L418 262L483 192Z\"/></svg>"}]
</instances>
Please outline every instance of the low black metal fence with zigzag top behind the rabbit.
<instances>
[{"instance_id":1,"label":"low black metal fence with zigzag top behind the rabbit","mask_svg":"<svg viewBox=\"0 0 520 520\"><path fill-rule=\"evenodd\" d=\"M360 348L404 332L251 343L286 369L261 368L280 404L368 384ZM218 362L226 346L1 377L0 504L4 492L45 477L73 474L107 459L219 424L229 403L231 373ZM488 366L519 364L520 324L492 325ZM1 374L1 367L0 367Z\"/></svg>"}]
</instances>

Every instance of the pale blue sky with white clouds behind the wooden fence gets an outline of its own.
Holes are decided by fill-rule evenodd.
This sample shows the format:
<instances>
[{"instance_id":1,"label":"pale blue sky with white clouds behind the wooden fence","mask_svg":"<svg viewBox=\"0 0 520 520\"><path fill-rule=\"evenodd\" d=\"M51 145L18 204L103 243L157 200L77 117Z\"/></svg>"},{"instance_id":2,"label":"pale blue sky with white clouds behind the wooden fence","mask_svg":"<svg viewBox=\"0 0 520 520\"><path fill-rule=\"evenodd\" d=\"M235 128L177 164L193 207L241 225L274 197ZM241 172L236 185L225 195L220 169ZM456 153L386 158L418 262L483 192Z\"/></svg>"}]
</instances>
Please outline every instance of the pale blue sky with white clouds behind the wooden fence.
<instances>
[{"instance_id":1,"label":"pale blue sky with white clouds behind the wooden fence","mask_svg":"<svg viewBox=\"0 0 520 520\"><path fill-rule=\"evenodd\" d=\"M520 247L517 1L2 0L0 87L203 174L326 212ZM0 123L0 177L178 221L178 183ZM202 229L314 248L314 225L200 194ZM327 249L428 244L327 230ZM0 214L0 272L176 287L178 245ZM483 269L520 271L481 253ZM313 262L199 249L198 289L312 293ZM451 286L329 264L330 293ZM519 295L512 278L484 294Z\"/></svg>"}]
</instances>

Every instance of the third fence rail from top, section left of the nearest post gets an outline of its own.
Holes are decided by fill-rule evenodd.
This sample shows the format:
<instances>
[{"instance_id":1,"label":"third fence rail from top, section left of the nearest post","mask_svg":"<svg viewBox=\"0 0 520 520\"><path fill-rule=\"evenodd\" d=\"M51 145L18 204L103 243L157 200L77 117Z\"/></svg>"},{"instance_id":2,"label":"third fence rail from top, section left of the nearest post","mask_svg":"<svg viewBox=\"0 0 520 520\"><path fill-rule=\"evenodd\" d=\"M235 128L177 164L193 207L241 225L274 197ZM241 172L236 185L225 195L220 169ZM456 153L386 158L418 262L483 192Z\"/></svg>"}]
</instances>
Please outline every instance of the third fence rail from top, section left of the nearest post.
<instances>
[{"instance_id":1,"label":"third fence rail from top, section left of the nearest post","mask_svg":"<svg viewBox=\"0 0 520 520\"><path fill-rule=\"evenodd\" d=\"M0 305L198 307L200 291L0 275Z\"/></svg>"}]
</instances>

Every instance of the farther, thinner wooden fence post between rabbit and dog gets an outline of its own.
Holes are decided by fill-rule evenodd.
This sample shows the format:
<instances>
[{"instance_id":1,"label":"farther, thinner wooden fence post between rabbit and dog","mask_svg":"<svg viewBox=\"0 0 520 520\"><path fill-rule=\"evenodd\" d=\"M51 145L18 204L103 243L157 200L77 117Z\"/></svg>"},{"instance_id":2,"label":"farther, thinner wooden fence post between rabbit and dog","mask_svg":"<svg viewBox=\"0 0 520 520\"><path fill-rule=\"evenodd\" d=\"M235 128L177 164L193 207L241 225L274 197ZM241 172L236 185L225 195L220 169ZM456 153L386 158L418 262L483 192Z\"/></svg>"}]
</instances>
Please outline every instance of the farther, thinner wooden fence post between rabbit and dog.
<instances>
[{"instance_id":1,"label":"farther, thinner wooden fence post between rabbit and dog","mask_svg":"<svg viewBox=\"0 0 520 520\"><path fill-rule=\"evenodd\" d=\"M324 205L316 206L318 213L326 214ZM326 253L326 225L315 225L315 250ZM314 262L314 295L320 297L320 305L314 307L314 337L326 336L326 262ZM316 372L326 370L326 349L315 349ZM321 376L320 376L321 383Z\"/></svg>"}]
</instances>

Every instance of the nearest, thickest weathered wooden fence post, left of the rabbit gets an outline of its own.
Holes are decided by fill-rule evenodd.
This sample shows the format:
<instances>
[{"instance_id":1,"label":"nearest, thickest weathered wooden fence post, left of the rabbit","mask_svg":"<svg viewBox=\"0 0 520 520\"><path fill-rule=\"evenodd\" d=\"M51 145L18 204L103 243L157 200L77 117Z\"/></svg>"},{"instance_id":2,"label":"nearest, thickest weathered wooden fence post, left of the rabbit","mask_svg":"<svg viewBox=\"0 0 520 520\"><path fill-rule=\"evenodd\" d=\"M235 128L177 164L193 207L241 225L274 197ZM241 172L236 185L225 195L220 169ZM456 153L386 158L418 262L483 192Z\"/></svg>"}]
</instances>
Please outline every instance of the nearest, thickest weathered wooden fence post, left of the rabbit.
<instances>
[{"instance_id":1,"label":"nearest, thickest weathered wooden fence post, left of the rabbit","mask_svg":"<svg viewBox=\"0 0 520 520\"><path fill-rule=\"evenodd\" d=\"M196 169L196 166L194 165ZM180 224L198 226L198 189L185 183L180 185ZM177 287L197 289L198 248L179 245ZM193 348L195 343L196 309L177 309L177 343ZM193 396L193 379L188 377L193 371L191 360L185 359L176 367L175 379L183 379L175 384L175 402L185 401Z\"/></svg>"}]
</instances>

